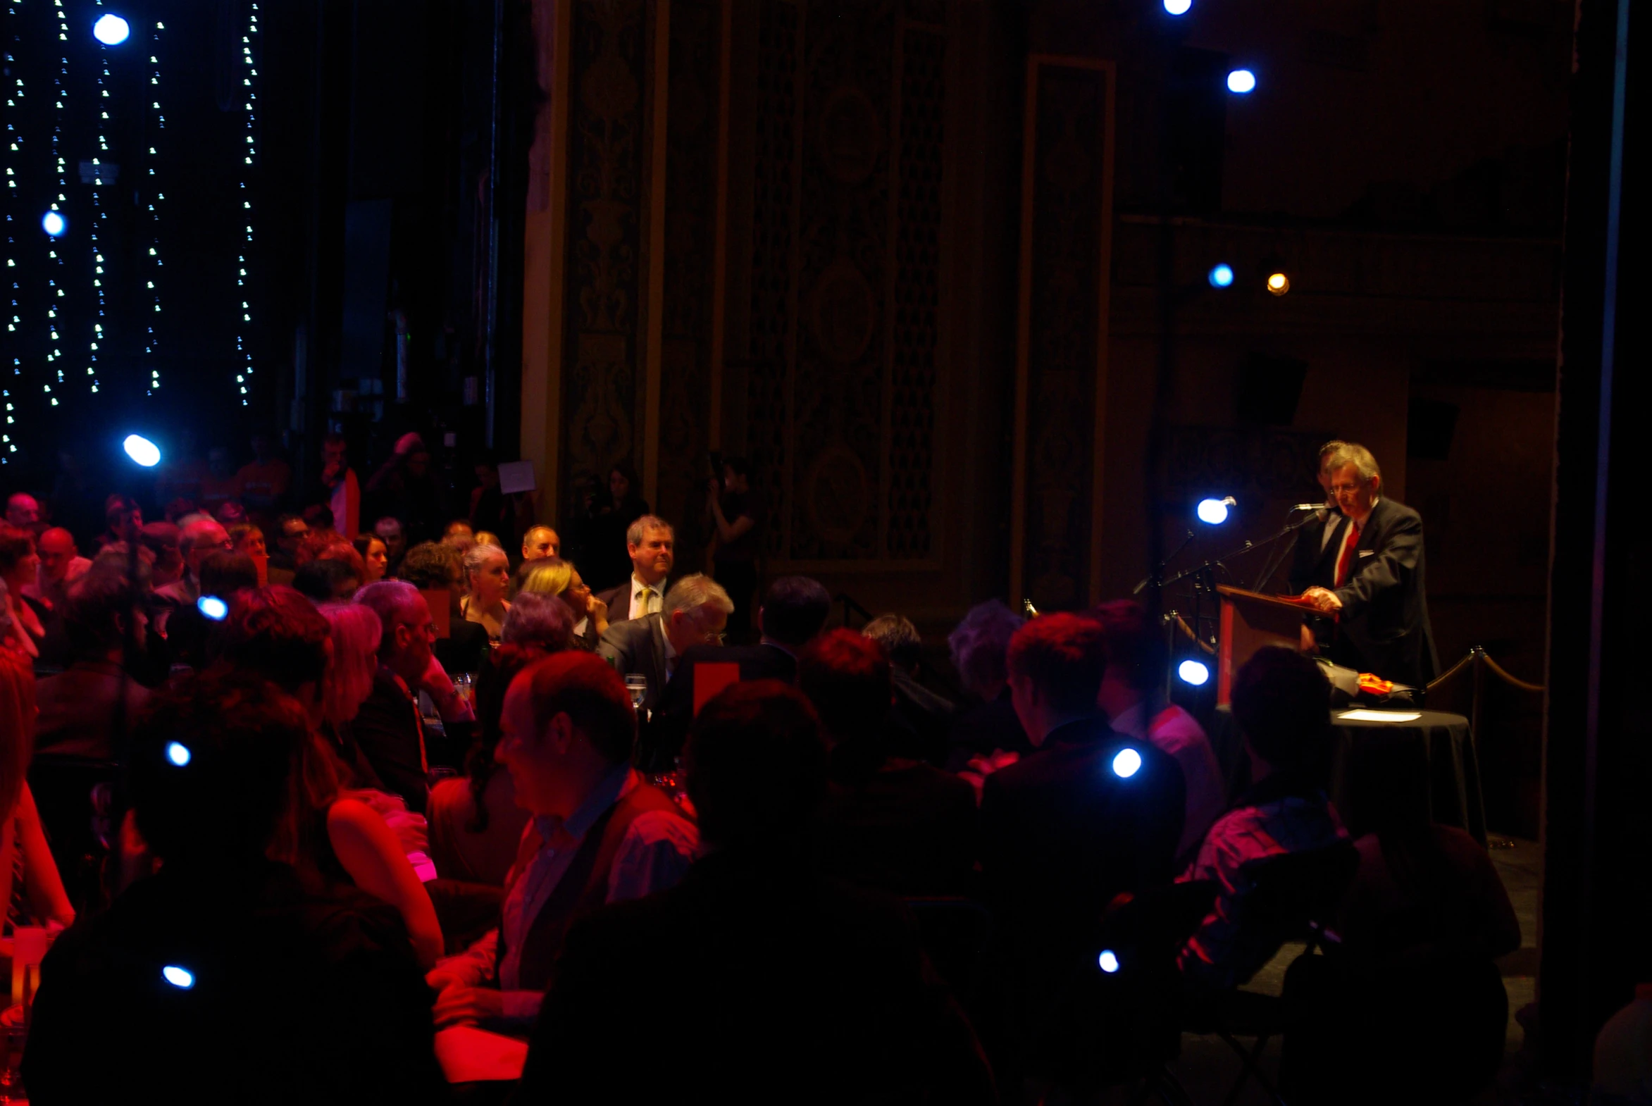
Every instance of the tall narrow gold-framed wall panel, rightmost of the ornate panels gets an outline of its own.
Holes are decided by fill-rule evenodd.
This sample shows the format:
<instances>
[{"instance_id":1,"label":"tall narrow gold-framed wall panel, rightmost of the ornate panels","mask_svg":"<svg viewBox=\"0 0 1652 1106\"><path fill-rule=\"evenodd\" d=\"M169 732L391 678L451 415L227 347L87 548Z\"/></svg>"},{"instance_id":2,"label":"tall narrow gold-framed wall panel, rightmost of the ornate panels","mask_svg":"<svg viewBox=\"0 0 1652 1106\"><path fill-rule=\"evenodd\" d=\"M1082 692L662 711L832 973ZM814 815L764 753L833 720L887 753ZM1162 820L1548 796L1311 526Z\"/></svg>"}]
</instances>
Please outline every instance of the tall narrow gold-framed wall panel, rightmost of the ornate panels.
<instances>
[{"instance_id":1,"label":"tall narrow gold-framed wall panel, rightmost of the ornate panels","mask_svg":"<svg viewBox=\"0 0 1652 1106\"><path fill-rule=\"evenodd\" d=\"M1094 589L1100 517L1110 64L1032 58L1026 111L1013 588L1072 609Z\"/></svg>"}]
</instances>

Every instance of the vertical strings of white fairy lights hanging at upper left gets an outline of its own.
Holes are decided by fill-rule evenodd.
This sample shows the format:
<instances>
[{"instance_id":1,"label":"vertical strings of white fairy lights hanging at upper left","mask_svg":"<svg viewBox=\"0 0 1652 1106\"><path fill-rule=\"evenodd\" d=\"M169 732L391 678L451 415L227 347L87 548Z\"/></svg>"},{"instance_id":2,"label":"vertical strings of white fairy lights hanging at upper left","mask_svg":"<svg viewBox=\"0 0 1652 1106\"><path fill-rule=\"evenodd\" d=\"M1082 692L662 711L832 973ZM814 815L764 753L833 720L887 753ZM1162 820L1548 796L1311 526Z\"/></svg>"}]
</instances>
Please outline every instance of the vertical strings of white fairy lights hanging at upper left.
<instances>
[{"instance_id":1,"label":"vertical strings of white fairy lights hanging at upper left","mask_svg":"<svg viewBox=\"0 0 1652 1106\"><path fill-rule=\"evenodd\" d=\"M5 355L10 373L0 380L0 399L5 403L0 464L17 459L18 442L13 437L20 421L26 429L36 401L48 408L69 404L73 409L71 395L107 391L109 358L121 348L135 358L132 366L140 378L134 385L154 396L162 388L162 355L173 353L169 332L162 327L169 309L162 254L173 229L167 211L167 25L164 20L145 20L129 28L126 18L106 7L117 3L5 0L5 150L0 152L5 190L0 198L7 231L10 310L5 312ZM238 66L241 96L236 104L240 150L235 178L240 210L235 215L240 216L240 234L235 251L238 295L233 302L240 310L233 325L233 371L235 395L243 408L251 406L254 375L251 266L253 193L261 144L261 18L259 3L246 5ZM91 43L79 41L88 30L102 46L96 56L83 48ZM129 30L132 46L144 54L129 63L111 61L119 56L116 50L127 43ZM50 45L41 43L43 38ZM112 64L132 68L117 79ZM50 87L45 84L48 78ZM134 96L139 84L142 94ZM170 91L175 99L177 89ZM48 97L50 102L43 102ZM127 112L124 119L122 112ZM127 139L112 147L116 134ZM139 134L140 139L132 137ZM178 154L177 149L170 152ZM76 168L78 180L71 178ZM122 172L131 183L121 180L126 190L116 191L112 185ZM71 188L71 180L79 191ZM117 231L114 220L122 216L127 198L135 198L137 218L127 221L126 231ZM83 258L89 259L84 279ZM122 274L116 289L107 286L116 279L112 274ZM172 292L180 294L178 287ZM124 304L121 312L114 312L116 302Z\"/></svg>"}]
</instances>

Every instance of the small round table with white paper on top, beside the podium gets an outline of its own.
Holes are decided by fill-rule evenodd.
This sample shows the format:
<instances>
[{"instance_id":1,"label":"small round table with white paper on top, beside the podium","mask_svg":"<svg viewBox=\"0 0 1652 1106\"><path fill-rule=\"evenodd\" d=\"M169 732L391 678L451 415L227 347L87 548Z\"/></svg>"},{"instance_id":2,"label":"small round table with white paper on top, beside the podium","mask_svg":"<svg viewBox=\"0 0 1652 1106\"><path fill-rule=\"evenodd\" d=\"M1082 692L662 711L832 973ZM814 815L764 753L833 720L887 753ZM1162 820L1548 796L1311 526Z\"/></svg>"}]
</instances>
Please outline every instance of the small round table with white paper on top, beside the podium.
<instances>
[{"instance_id":1,"label":"small round table with white paper on top, beside the podium","mask_svg":"<svg viewBox=\"0 0 1652 1106\"><path fill-rule=\"evenodd\" d=\"M1209 735L1232 801L1251 782L1251 761L1227 707L1216 708ZM1368 741L1421 743L1427 769L1411 786L1426 792L1436 822L1469 830L1477 842L1485 844L1480 763L1467 718L1439 710L1356 708L1351 716L1348 710L1332 711L1332 771L1327 792L1355 837L1371 829L1374 814L1358 809L1350 787L1355 753Z\"/></svg>"}]
</instances>

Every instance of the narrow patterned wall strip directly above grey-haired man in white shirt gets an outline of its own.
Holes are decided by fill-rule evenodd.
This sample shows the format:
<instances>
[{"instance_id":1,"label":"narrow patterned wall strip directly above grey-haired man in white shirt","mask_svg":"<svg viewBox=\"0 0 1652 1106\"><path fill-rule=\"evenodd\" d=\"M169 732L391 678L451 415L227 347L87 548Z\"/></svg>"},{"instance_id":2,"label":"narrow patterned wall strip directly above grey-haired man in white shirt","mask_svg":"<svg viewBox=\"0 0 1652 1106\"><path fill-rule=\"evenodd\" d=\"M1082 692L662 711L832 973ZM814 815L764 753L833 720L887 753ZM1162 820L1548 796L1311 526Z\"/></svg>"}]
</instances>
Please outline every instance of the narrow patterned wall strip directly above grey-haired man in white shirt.
<instances>
[{"instance_id":1,"label":"narrow patterned wall strip directly above grey-haired man in white shirt","mask_svg":"<svg viewBox=\"0 0 1652 1106\"><path fill-rule=\"evenodd\" d=\"M697 571L705 536L712 266L717 233L720 0L672 0L666 119L666 317L659 373L659 494L679 523L677 568Z\"/></svg>"}]
</instances>

